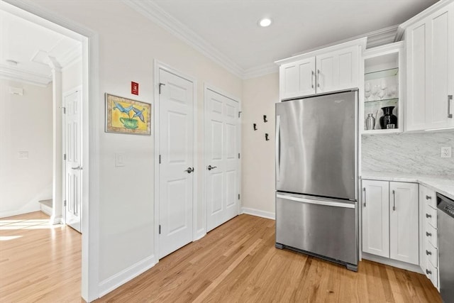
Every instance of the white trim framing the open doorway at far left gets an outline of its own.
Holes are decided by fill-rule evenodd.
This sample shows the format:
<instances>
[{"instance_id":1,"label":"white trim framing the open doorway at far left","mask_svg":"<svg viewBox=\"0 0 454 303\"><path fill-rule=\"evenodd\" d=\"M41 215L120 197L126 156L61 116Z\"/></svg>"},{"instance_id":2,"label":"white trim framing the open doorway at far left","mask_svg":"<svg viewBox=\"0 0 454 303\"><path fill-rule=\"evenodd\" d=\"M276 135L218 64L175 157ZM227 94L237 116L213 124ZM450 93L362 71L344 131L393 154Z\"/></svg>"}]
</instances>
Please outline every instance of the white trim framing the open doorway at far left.
<instances>
[{"instance_id":1,"label":"white trim framing the open doorway at far left","mask_svg":"<svg viewBox=\"0 0 454 303\"><path fill-rule=\"evenodd\" d=\"M95 31L43 9L33 1L3 0L0 9L52 31L82 41L83 184L82 197L82 298L99 297L99 38ZM89 102L92 100L92 102Z\"/></svg>"}]
</instances>

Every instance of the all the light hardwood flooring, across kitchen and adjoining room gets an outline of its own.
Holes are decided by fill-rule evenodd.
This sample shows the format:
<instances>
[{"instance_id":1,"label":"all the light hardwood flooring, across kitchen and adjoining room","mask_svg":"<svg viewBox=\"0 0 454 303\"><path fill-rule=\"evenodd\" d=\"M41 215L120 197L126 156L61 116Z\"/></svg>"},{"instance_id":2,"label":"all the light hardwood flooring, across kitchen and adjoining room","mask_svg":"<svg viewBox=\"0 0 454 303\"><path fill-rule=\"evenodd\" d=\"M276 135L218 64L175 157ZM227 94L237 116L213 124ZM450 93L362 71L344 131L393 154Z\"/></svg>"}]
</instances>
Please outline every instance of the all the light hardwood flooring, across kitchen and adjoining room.
<instances>
[{"instance_id":1,"label":"all the light hardwood flooring, across kitchen and adjoining room","mask_svg":"<svg viewBox=\"0 0 454 303\"><path fill-rule=\"evenodd\" d=\"M8 231L2 229L0 236L9 235ZM20 231L13 229L14 235L26 234ZM38 232L34 240L14 245L13 240L1 242L0 302L81 302L79 233L65 227L34 231ZM43 270L48 257L41 255L41 246L54 246L54 254L66 251L68 255L58 253L57 264ZM33 257L16 256L23 250L34 250ZM366 260L360 262L358 272L351 272L341 265L279 250L274 221L240 215L96 302L432 303L441 298L425 276L414 272Z\"/></svg>"}]
</instances>

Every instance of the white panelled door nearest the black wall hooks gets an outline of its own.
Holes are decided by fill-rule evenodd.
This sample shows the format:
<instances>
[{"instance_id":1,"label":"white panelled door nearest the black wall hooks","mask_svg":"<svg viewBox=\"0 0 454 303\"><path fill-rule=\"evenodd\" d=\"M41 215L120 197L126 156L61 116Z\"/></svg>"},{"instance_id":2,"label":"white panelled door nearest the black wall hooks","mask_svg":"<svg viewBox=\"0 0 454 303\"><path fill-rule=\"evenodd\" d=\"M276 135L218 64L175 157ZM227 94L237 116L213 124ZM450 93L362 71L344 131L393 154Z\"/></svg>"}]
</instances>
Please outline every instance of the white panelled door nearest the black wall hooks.
<instances>
[{"instance_id":1,"label":"white panelled door nearest the black wall hooks","mask_svg":"<svg viewBox=\"0 0 454 303\"><path fill-rule=\"evenodd\" d=\"M205 89L206 231L238 215L238 102Z\"/></svg>"}]
</instances>

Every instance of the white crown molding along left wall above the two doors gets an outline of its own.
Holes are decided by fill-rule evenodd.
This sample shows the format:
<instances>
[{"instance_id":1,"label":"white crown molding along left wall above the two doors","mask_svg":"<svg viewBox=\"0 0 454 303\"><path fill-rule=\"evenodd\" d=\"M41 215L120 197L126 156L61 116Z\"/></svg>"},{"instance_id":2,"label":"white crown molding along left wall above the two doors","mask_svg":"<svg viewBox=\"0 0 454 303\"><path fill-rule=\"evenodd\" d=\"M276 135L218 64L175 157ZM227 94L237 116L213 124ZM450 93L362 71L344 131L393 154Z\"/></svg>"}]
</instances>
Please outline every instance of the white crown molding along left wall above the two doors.
<instances>
[{"instance_id":1,"label":"white crown molding along left wall above the two doors","mask_svg":"<svg viewBox=\"0 0 454 303\"><path fill-rule=\"evenodd\" d=\"M209 57L209 59L213 60L218 65L221 65L233 75L243 79L244 70L240 66L194 33L194 31L191 31L187 26L184 26L183 23L170 16L170 14L161 9L160 6L157 6L152 1L143 0L122 0L122 2L131 7L131 9L138 11L138 13L147 17L158 26L164 28L166 31L172 33L172 35L175 35L180 40L183 40L206 57Z\"/></svg>"}]
</instances>

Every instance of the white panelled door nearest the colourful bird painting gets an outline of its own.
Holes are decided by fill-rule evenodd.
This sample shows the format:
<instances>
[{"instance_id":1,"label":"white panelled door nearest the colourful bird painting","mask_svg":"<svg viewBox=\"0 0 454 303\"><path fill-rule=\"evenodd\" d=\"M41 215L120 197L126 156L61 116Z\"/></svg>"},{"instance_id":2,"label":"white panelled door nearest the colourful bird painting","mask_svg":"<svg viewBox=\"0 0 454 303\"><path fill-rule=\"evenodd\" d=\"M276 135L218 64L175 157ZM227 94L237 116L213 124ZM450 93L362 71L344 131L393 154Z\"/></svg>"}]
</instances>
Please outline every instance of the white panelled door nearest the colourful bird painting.
<instances>
[{"instance_id":1,"label":"white panelled door nearest the colourful bird painting","mask_svg":"<svg viewBox=\"0 0 454 303\"><path fill-rule=\"evenodd\" d=\"M159 70L159 258L192 241L194 83Z\"/></svg>"}]
</instances>

